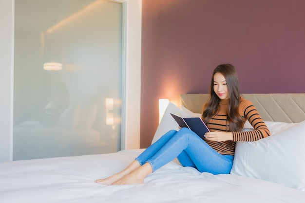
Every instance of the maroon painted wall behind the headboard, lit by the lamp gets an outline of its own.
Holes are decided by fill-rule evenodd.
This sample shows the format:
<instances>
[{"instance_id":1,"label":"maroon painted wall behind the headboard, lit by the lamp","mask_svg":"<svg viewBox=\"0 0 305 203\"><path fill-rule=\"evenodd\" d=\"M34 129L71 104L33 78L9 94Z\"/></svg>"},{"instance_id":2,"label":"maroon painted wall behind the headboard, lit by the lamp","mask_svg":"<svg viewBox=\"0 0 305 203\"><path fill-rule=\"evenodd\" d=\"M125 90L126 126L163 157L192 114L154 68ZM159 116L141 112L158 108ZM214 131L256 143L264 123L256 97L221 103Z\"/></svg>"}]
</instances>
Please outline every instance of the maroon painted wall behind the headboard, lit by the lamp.
<instances>
[{"instance_id":1,"label":"maroon painted wall behind the headboard, lit by the lamp","mask_svg":"<svg viewBox=\"0 0 305 203\"><path fill-rule=\"evenodd\" d=\"M242 93L305 92L305 0L143 0L140 147L158 99L208 93L231 63Z\"/></svg>"}]
</instances>

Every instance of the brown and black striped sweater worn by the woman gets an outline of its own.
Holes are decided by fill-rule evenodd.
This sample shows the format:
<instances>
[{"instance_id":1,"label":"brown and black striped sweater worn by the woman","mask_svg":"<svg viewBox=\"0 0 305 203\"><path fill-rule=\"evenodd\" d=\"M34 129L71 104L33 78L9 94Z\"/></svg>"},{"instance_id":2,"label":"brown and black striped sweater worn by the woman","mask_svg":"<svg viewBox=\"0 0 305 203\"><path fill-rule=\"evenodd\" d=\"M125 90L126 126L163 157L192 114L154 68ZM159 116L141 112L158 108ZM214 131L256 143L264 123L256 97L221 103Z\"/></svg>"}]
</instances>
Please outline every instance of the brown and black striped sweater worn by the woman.
<instances>
[{"instance_id":1,"label":"brown and black striped sweater worn by the woman","mask_svg":"<svg viewBox=\"0 0 305 203\"><path fill-rule=\"evenodd\" d=\"M210 131L229 131L229 122L227 121L228 104L229 100L220 101L220 110L210 119L209 123L207 123ZM269 129L250 101L243 98L241 99L239 113L248 119L254 130L247 132L232 132L233 141L216 142L205 140L211 148L215 149L220 154L234 155L236 141L256 141L270 135Z\"/></svg>"}]
</instances>

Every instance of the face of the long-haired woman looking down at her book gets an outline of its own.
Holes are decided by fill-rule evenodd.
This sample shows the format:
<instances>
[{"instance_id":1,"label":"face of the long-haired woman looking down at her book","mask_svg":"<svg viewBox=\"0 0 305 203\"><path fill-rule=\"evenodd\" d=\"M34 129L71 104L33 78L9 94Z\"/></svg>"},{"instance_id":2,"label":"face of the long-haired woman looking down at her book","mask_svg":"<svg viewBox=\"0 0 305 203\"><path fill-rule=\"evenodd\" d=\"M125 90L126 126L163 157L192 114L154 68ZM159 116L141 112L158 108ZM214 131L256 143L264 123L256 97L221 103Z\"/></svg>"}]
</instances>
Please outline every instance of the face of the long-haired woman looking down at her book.
<instances>
[{"instance_id":1,"label":"face of the long-haired woman looking down at her book","mask_svg":"<svg viewBox=\"0 0 305 203\"><path fill-rule=\"evenodd\" d=\"M214 92L220 99L229 99L229 91L226 78L221 73L214 74Z\"/></svg>"}]
</instances>

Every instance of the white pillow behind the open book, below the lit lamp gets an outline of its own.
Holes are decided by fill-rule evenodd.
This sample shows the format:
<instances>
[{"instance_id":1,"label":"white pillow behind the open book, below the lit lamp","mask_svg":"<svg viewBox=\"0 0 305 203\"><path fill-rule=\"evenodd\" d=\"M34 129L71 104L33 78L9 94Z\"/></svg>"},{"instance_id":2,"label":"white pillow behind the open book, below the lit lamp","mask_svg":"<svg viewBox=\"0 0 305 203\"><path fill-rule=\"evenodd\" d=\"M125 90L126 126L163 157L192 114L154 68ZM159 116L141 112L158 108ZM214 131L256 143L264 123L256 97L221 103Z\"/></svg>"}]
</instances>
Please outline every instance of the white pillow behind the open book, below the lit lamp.
<instances>
[{"instance_id":1,"label":"white pillow behind the open book, below the lit lamp","mask_svg":"<svg viewBox=\"0 0 305 203\"><path fill-rule=\"evenodd\" d=\"M189 110L188 110L189 111ZM191 112L191 111L190 111ZM166 110L164 111L163 117L159 123L159 126L154 133L152 144L155 143L162 135L167 133L171 129L179 130L179 125L177 122L172 118L172 115L170 113L180 115L180 116L190 116L190 112L186 112L181 110L179 107L174 105L172 102L169 103Z\"/></svg>"}]
</instances>

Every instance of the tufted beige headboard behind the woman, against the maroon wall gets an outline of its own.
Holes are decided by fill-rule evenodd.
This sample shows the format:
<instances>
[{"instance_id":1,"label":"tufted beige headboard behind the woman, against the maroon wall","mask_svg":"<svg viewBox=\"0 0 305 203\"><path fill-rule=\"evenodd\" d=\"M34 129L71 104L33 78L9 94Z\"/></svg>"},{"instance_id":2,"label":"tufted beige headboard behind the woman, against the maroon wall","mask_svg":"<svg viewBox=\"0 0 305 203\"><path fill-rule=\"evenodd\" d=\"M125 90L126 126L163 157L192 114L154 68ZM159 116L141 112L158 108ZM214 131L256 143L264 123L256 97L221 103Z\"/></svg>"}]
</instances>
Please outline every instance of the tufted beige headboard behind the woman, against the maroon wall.
<instances>
[{"instance_id":1,"label":"tufted beige headboard behind the woman, against the maroon wall","mask_svg":"<svg viewBox=\"0 0 305 203\"><path fill-rule=\"evenodd\" d=\"M305 120L305 93L242 94L264 121L298 123ZM209 94L181 94L180 106L201 113Z\"/></svg>"}]
</instances>

